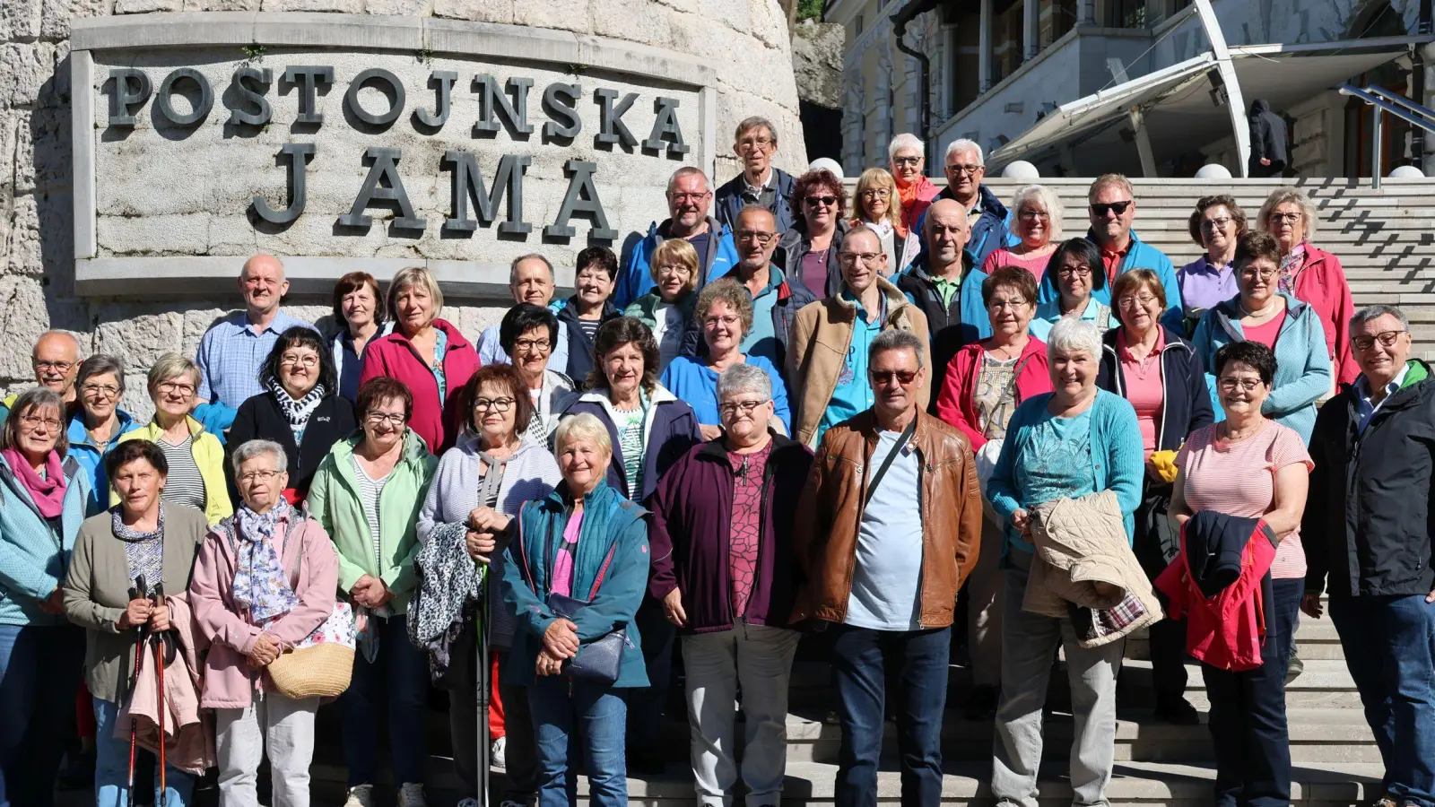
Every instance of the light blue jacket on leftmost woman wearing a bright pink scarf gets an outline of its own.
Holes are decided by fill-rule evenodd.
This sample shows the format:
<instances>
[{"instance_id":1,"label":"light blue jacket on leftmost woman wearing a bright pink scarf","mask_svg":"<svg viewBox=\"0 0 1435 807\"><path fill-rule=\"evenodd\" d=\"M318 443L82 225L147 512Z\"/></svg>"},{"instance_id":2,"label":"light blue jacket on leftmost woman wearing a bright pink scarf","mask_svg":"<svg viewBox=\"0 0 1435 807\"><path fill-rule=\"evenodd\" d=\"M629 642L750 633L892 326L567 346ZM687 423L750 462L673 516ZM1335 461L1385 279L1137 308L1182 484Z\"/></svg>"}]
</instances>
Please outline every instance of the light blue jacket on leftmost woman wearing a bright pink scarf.
<instances>
[{"instance_id":1,"label":"light blue jacket on leftmost woman wearing a bright pink scarf","mask_svg":"<svg viewBox=\"0 0 1435 807\"><path fill-rule=\"evenodd\" d=\"M63 613L44 613L40 600L55 593L70 566L75 536L85 521L89 477L65 458L65 508L46 520L0 455L0 625L67 625Z\"/></svg>"}]
</instances>

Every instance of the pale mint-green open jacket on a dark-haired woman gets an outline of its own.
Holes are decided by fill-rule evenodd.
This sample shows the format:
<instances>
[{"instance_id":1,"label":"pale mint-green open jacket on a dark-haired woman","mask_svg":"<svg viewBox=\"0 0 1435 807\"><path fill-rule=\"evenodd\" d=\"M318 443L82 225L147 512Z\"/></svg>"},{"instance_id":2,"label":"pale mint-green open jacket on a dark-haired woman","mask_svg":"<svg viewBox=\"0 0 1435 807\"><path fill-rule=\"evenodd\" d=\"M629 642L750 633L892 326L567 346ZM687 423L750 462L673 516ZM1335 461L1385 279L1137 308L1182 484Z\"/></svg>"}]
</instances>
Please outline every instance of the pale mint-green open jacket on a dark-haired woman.
<instances>
[{"instance_id":1,"label":"pale mint-green open jacket on a dark-haired woman","mask_svg":"<svg viewBox=\"0 0 1435 807\"><path fill-rule=\"evenodd\" d=\"M409 593L418 583L413 559L420 544L415 524L439 460L412 429L403 435L403 458L379 494L379 557L375 557L353 464L354 448L363 439L359 434L336 442L319 464L309 487L309 513L329 533L339 553L339 587L347 593L359 577L377 577L393 592L393 612L405 613Z\"/></svg>"}]
</instances>

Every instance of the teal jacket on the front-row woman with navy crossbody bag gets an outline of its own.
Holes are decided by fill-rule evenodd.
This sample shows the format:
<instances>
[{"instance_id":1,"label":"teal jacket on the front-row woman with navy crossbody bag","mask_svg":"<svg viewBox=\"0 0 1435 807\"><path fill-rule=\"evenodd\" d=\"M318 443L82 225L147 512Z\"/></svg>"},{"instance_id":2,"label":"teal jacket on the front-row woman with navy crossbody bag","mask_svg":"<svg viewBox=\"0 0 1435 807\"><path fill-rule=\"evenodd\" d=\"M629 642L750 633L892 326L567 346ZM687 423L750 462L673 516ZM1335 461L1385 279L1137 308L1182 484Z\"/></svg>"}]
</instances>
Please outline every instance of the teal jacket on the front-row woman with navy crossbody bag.
<instances>
[{"instance_id":1,"label":"teal jacket on the front-row woman with navy crossbody bag","mask_svg":"<svg viewBox=\"0 0 1435 807\"><path fill-rule=\"evenodd\" d=\"M548 607L552 557L563 543L571 505L564 501L567 484L545 498L524 504L514 518L517 534L504 550L504 602L518 616L512 649L504 679L519 686L535 679L534 666L542 649L542 635L557 617ZM578 553L574 559L573 597L588 600L593 582L613 550L603 583L590 605L573 622L578 626L580 645L593 642L618 628L627 628L623 666L614 686L647 686L641 640L637 633L637 606L647 590L647 511L623 498L607 482L598 482L583 497L583 526L578 528ZM514 530L509 526L509 531ZM580 648L580 653L583 649Z\"/></svg>"}]
</instances>

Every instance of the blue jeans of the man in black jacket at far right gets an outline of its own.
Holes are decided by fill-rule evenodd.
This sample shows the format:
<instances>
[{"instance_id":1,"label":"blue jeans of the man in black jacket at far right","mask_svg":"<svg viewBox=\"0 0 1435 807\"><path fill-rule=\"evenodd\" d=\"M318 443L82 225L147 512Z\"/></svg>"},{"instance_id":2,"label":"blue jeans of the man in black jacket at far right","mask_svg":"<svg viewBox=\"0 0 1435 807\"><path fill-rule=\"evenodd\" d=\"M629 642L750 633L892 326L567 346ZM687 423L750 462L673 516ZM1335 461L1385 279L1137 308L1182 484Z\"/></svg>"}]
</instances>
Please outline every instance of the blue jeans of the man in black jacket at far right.
<instances>
[{"instance_id":1,"label":"blue jeans of the man in black jacket at far right","mask_svg":"<svg viewBox=\"0 0 1435 807\"><path fill-rule=\"evenodd\" d=\"M1398 804L1435 806L1435 603L1330 596L1330 620Z\"/></svg>"}]
</instances>

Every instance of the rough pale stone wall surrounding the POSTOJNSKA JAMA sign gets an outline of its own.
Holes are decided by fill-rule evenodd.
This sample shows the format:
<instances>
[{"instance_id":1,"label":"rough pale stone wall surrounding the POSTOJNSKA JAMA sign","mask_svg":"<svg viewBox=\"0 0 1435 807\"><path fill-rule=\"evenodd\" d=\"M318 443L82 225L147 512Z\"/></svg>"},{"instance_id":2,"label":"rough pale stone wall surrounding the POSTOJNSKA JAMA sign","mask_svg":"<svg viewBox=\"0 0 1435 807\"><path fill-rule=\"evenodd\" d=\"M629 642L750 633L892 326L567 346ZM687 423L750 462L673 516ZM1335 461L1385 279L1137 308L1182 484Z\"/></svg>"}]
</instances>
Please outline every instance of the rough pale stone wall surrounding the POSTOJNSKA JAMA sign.
<instances>
[{"instance_id":1,"label":"rough pale stone wall surrounding the POSTOJNSKA JAMA sign","mask_svg":"<svg viewBox=\"0 0 1435 807\"><path fill-rule=\"evenodd\" d=\"M155 11L333 11L448 17L571 30L689 53L718 76L716 179L738 171L723 144L738 121L765 115L782 141L779 164L806 165L786 20L776 0L0 0L0 388L33 379L30 345L46 329L75 332L85 355L126 362L125 405L148 416L144 372L166 350L194 355L199 336L234 299L133 303L73 296L70 197L70 20ZM273 168L271 168L273 171ZM185 178L177 172L175 182ZM159 234L168 237L168 234ZM448 309L469 337L504 302ZM327 302L290 300L317 320Z\"/></svg>"}]
</instances>

